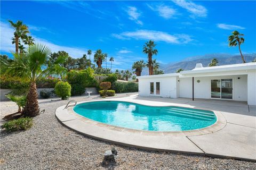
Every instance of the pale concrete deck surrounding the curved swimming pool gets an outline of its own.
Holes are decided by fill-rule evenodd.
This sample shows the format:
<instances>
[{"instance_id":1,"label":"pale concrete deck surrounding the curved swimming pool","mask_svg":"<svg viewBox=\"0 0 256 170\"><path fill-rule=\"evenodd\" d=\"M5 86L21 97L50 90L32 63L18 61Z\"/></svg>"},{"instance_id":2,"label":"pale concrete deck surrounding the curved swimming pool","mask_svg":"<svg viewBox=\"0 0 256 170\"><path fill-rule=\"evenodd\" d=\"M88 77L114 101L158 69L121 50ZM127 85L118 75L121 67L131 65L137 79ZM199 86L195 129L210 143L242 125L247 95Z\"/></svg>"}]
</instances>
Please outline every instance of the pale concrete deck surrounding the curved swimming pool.
<instances>
[{"instance_id":1,"label":"pale concrete deck surrounding the curved swimming pool","mask_svg":"<svg viewBox=\"0 0 256 170\"><path fill-rule=\"evenodd\" d=\"M103 100L209 109L217 115L218 121L214 125L200 130L153 132L131 130L92 121L74 113L72 107L64 109L65 106L61 106L57 108L55 115L62 124L70 129L119 145L256 161L255 106L248 106L246 103L238 101L205 99L191 101L191 99L185 98L170 99L138 97L137 95Z\"/></svg>"}]
</instances>

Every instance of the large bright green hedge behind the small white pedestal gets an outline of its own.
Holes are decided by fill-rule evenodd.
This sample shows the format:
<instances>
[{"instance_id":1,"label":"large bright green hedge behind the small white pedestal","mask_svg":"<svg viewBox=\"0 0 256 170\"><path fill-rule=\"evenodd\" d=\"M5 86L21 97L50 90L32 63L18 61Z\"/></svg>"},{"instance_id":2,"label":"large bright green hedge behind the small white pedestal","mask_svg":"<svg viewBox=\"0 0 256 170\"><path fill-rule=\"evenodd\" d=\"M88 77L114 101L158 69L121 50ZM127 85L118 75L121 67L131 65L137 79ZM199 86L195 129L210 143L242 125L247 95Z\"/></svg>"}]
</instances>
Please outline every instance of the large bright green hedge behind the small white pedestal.
<instances>
[{"instance_id":1,"label":"large bright green hedge behind the small white pedestal","mask_svg":"<svg viewBox=\"0 0 256 170\"><path fill-rule=\"evenodd\" d=\"M97 81L94 78L93 70L71 70L67 74L67 81L71 86L71 96L84 94L86 87L96 87Z\"/></svg>"}]
</instances>

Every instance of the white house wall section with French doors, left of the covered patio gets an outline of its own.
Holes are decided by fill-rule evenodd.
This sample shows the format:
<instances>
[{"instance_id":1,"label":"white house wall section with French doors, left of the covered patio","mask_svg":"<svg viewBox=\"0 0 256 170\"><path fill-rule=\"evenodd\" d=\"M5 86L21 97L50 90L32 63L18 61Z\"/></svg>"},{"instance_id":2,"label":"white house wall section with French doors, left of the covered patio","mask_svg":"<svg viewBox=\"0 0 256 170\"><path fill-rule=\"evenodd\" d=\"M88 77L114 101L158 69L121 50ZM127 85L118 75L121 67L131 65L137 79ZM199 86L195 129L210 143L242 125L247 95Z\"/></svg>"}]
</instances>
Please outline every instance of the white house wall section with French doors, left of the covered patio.
<instances>
[{"instance_id":1,"label":"white house wall section with French doors, left of the covered patio","mask_svg":"<svg viewBox=\"0 0 256 170\"><path fill-rule=\"evenodd\" d=\"M161 78L143 78L139 79L139 95L140 96L154 96L150 95L150 82L160 82L161 97L177 98L177 81L178 77L161 77Z\"/></svg>"}]
</instances>

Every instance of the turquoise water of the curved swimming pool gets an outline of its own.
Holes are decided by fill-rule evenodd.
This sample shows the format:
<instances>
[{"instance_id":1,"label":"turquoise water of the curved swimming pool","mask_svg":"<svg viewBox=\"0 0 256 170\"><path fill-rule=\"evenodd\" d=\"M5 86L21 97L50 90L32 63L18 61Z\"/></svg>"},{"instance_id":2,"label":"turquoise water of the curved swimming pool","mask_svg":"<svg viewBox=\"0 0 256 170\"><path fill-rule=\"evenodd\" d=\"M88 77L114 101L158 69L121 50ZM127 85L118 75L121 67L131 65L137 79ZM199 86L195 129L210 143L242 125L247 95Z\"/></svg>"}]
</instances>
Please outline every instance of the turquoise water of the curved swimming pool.
<instances>
[{"instance_id":1,"label":"turquoise water of the curved swimming pool","mask_svg":"<svg viewBox=\"0 0 256 170\"><path fill-rule=\"evenodd\" d=\"M74 111L101 123L148 131L201 129L217 120L212 111L176 106L144 106L124 101L92 101L76 105Z\"/></svg>"}]
</instances>

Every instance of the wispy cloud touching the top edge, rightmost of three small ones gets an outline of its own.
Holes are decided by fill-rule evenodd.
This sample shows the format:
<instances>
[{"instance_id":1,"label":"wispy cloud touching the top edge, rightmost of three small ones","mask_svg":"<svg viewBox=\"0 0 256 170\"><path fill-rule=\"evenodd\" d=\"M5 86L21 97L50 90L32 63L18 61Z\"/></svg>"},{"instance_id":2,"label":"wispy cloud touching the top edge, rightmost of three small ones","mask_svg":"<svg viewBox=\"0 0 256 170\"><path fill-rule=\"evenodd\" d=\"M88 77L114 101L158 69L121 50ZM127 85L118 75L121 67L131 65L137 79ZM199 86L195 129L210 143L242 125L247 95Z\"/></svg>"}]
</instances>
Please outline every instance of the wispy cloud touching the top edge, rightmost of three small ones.
<instances>
[{"instance_id":1,"label":"wispy cloud touching the top edge, rightmost of three small ones","mask_svg":"<svg viewBox=\"0 0 256 170\"><path fill-rule=\"evenodd\" d=\"M196 16L198 17L206 17L207 16L207 9L202 6L195 4L194 2L191 1L185 1L185 0L177 0L173 1L176 5L185 8L188 12L190 12L192 15L191 17L195 18Z\"/></svg>"}]
</instances>

